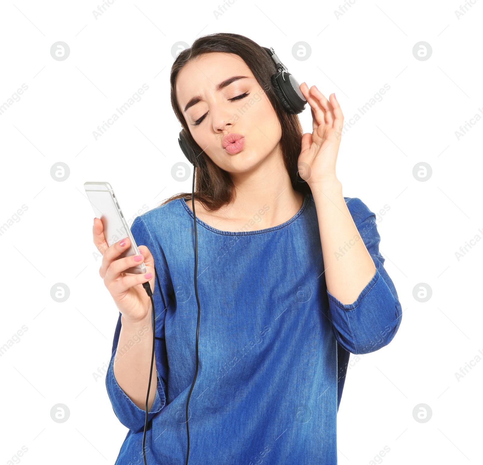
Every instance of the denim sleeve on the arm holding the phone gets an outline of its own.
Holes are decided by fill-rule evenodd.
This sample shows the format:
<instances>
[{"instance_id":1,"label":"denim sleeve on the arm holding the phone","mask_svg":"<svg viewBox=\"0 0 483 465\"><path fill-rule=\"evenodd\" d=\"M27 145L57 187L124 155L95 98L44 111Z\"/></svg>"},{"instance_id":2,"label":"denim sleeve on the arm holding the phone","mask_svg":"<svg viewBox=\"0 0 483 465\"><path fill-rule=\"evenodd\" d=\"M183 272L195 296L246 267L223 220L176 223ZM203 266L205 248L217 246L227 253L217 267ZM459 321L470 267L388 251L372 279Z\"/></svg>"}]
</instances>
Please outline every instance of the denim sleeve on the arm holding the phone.
<instances>
[{"instance_id":1,"label":"denim sleeve on the arm holding the phone","mask_svg":"<svg viewBox=\"0 0 483 465\"><path fill-rule=\"evenodd\" d=\"M130 229L134 240L136 241L136 244L145 245L153 255L156 269L153 300L156 317L155 358L157 371L157 386L154 403L150 411L148 412L148 422L150 422L153 417L158 414L166 404L165 393L167 392L168 361L164 337L164 321L167 308L167 299L165 296L167 296L168 294L166 291L166 285L169 280L168 275L166 274L167 265L165 263L164 254L162 254L160 246L155 245L155 242L152 240L151 235L149 234L146 225L144 224L140 216L136 217ZM161 258L163 260L161 260ZM147 329L148 328L146 328L146 330ZM143 330L138 331L138 333L142 332ZM128 397L128 395L126 395L126 393L117 383L114 377L114 360L116 359L116 357L122 357L123 354L126 353L130 347L132 347L136 342L139 342L142 334L133 335L133 337L124 347L118 349L117 344L119 342L120 333L121 313L119 312L119 318L117 320L117 325L114 331L111 360L106 374L106 389L109 395L109 399L111 400L114 413L118 420L128 429L134 432L139 432L144 430L146 411L144 409L140 409L136 404L134 404L134 402L132 402L132 400Z\"/></svg>"}]
</instances>

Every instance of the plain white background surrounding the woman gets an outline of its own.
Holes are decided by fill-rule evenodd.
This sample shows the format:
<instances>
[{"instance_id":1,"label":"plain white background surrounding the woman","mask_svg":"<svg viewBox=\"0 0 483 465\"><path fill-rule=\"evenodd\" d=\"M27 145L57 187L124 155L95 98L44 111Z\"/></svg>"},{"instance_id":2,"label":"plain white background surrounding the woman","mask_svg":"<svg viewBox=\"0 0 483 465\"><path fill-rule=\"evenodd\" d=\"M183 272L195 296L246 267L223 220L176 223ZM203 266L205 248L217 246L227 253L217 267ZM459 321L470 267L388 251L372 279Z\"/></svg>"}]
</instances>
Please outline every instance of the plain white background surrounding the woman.
<instances>
[{"instance_id":1,"label":"plain white background surrounding the woman","mask_svg":"<svg viewBox=\"0 0 483 465\"><path fill-rule=\"evenodd\" d=\"M25 464L114 464L128 430L104 376L93 373L109 362L118 310L99 278L83 184L110 182L131 218L191 191L191 177L171 177L185 161L170 106L171 47L213 32L273 47L300 83L336 93L346 121L390 86L342 136L337 176L345 197L374 212L390 207L378 220L380 250L404 312L388 346L351 355L339 464L481 463L483 362L459 381L455 373L483 352L483 243L460 260L455 252L483 237L483 122L473 120L459 140L455 131L483 116L483 1L459 19L460 0L357 0L339 18L339 0L298 2L295 11L235 0L218 18L219 0L115 0L96 19L98 5L23 1L0 9L0 105L28 86L0 115L0 225L27 207L0 235L0 346L28 328L0 357L0 464L22 446L28 451L15 461ZM70 47L63 61L50 54L57 41ZM304 61L292 55L300 41L312 49ZM420 41L432 47L425 61L412 53ZM93 131L143 84L142 99L96 140ZM310 111L300 119L312 132ZM58 162L70 169L63 182L50 175ZM432 169L426 181L412 174L421 162ZM63 303L50 296L58 282L70 289ZM424 303L413 296L420 283L432 289ZM70 409L65 423L51 419L59 403ZM419 404L432 410L426 423L413 418Z\"/></svg>"}]
</instances>

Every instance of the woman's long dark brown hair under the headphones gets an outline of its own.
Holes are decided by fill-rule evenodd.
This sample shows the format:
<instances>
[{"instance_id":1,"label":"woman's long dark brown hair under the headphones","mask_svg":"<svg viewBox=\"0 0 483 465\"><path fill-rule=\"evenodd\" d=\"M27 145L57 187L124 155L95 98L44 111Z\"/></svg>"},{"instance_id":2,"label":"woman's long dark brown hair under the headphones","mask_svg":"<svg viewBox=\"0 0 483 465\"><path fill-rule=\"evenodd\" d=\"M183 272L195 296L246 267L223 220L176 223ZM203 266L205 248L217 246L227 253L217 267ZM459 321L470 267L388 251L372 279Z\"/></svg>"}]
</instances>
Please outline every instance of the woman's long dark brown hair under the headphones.
<instances>
[{"instance_id":1,"label":"woman's long dark brown hair under the headphones","mask_svg":"<svg viewBox=\"0 0 483 465\"><path fill-rule=\"evenodd\" d=\"M219 32L196 39L191 48L179 53L171 67L171 106L184 129L189 147L196 155L200 154L196 157L195 199L201 202L207 211L216 211L235 197L235 186L229 173L215 165L195 142L176 98L176 78L179 71L186 63L210 52L233 53L240 56L250 68L258 84L263 87L280 121L282 127L280 146L292 186L302 194L311 193L309 185L298 174L297 160L303 136L300 120L296 114L289 114L284 110L275 94L270 80L270 76L277 71L273 61L267 51L251 39L239 34ZM181 197L191 200L191 193L176 194L161 205Z\"/></svg>"}]
</instances>

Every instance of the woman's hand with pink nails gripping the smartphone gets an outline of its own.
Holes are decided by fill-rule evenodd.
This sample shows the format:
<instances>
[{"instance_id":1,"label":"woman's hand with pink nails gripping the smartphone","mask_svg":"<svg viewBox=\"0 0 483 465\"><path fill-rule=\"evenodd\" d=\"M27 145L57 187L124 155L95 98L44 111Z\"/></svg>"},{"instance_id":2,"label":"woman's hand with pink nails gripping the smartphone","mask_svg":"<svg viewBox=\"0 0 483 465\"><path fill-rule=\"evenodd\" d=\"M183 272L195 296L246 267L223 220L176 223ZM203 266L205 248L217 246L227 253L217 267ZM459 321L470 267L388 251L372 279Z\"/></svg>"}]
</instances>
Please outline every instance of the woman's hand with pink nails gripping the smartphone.
<instances>
[{"instance_id":1,"label":"woman's hand with pink nails gripping the smartphone","mask_svg":"<svg viewBox=\"0 0 483 465\"><path fill-rule=\"evenodd\" d=\"M154 258L149 249L142 245L138 246L141 255L129 255L124 258L119 256L129 248L129 238L121 239L109 246L103 232L103 225L99 218L94 218L92 227L94 244L102 254L102 264L99 275L114 302L121 312L124 320L128 323L144 321L151 316L151 299L142 287L143 282L148 282L154 293ZM141 258L136 261L135 258ZM144 262L146 274L130 274L125 270Z\"/></svg>"}]
</instances>

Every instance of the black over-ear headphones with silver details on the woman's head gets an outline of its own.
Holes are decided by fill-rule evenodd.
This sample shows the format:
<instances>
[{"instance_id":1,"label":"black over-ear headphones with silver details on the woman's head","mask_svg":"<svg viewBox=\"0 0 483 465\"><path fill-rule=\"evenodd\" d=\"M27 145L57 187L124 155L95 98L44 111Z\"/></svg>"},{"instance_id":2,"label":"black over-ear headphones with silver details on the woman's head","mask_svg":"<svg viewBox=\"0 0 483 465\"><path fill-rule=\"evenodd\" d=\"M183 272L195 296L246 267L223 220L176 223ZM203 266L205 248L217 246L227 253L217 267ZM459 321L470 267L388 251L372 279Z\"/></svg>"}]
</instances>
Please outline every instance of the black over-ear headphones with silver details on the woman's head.
<instances>
[{"instance_id":1,"label":"black over-ear headphones with silver details on the woman's head","mask_svg":"<svg viewBox=\"0 0 483 465\"><path fill-rule=\"evenodd\" d=\"M275 55L275 51L272 47L262 48L267 51L270 58L273 60L273 63L275 64L275 68L277 69L277 72L272 74L270 80L273 85L273 90L275 91L275 94L277 94L277 97L282 103L285 111L291 114L302 113L305 110L307 100L303 96L302 92L300 92L300 85L298 84L297 79L295 79L293 74L288 72L287 67L280 61L279 57ZM188 161L192 165L195 165L195 155L189 147L187 138L185 136L185 129L181 130L178 143Z\"/></svg>"}]
</instances>

